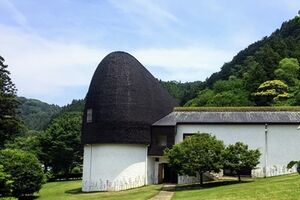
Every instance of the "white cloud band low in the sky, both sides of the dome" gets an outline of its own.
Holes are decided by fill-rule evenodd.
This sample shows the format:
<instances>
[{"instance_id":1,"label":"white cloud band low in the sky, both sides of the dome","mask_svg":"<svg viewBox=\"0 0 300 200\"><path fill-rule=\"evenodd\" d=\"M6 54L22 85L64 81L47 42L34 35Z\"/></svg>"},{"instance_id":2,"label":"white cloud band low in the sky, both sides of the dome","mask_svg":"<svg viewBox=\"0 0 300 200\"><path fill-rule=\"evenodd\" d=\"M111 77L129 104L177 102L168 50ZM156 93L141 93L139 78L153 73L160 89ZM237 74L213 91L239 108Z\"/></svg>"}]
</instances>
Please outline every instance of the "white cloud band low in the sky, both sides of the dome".
<instances>
[{"instance_id":1,"label":"white cloud band low in the sky, both sides of the dome","mask_svg":"<svg viewBox=\"0 0 300 200\"><path fill-rule=\"evenodd\" d=\"M58 43L7 26L0 26L0 33L0 54L9 65L19 94L27 97L60 98L65 88L87 87L97 64L109 53L76 43ZM130 53L157 78L181 81L204 80L233 56L232 52L209 47L136 49Z\"/></svg>"}]
</instances>

